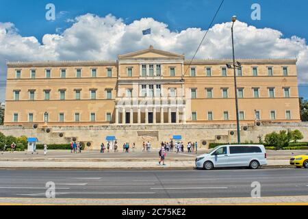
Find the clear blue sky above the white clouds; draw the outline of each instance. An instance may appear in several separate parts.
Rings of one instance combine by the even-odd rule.
[[[47,3],[55,5],[55,21],[45,19]],[[123,18],[124,23],[152,17],[155,21],[166,23],[171,31],[181,31],[188,27],[207,29],[219,3],[218,0],[0,0],[0,22],[14,23],[18,34],[35,36],[40,42],[44,34],[61,34],[61,30],[70,27],[72,23],[66,22],[68,18],[86,13],[99,16],[112,14]],[[251,19],[253,3],[261,5],[260,21]],[[296,35],[308,39],[307,7],[308,1],[305,0],[225,0],[215,23],[230,21],[231,16],[236,14],[240,21],[248,25],[281,31],[284,38]],[[300,95],[308,99],[308,87],[301,87]]]

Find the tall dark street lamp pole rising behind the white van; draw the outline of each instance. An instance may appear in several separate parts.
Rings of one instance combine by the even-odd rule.
[[[242,64],[240,62],[236,62],[235,64],[235,55],[234,55],[234,39],[233,39],[233,25],[236,21],[236,16],[232,17],[232,27],[231,27],[231,35],[232,35],[232,53],[233,53],[233,66],[231,64],[226,64],[227,68],[233,68],[234,72],[234,90],[235,90],[235,109],[236,109],[236,129],[238,131],[238,144],[241,142],[241,136],[240,136],[240,118],[239,118],[239,112],[238,112],[238,86],[236,85],[236,68],[241,68]]]

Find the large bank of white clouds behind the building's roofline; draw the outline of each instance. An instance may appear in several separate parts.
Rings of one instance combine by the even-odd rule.
[[[12,23],[0,23],[0,73],[5,80],[5,60],[116,60],[116,55],[145,49],[185,53],[190,58],[205,34],[200,28],[180,32],[153,18],[142,18],[125,24],[112,15],[100,17],[84,14],[70,19],[72,26],[62,34],[45,34],[42,44],[18,34]],[[142,36],[142,29],[151,28],[151,36]],[[207,34],[196,58],[231,57],[231,23],[214,25]],[[300,80],[308,80],[308,47],[303,38],[283,38],[281,31],[258,29],[240,21],[235,23],[235,53],[243,58],[298,57]],[[5,88],[0,88],[0,92]],[[0,100],[4,99],[1,92]]]

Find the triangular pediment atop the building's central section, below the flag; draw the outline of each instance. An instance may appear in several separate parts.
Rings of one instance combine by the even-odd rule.
[[[168,51],[162,51],[159,49],[154,49],[153,46],[149,49],[144,49],[136,51],[133,53],[127,53],[124,55],[118,55],[118,59],[139,59],[139,58],[176,58],[184,59],[184,55],[179,55],[177,53],[170,53]]]

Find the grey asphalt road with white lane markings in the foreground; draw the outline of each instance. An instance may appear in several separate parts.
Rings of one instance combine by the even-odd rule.
[[[249,197],[308,195],[307,169],[229,170],[0,170],[0,197],[44,198],[47,181],[56,198]],[[129,204],[129,203],[128,203]]]

